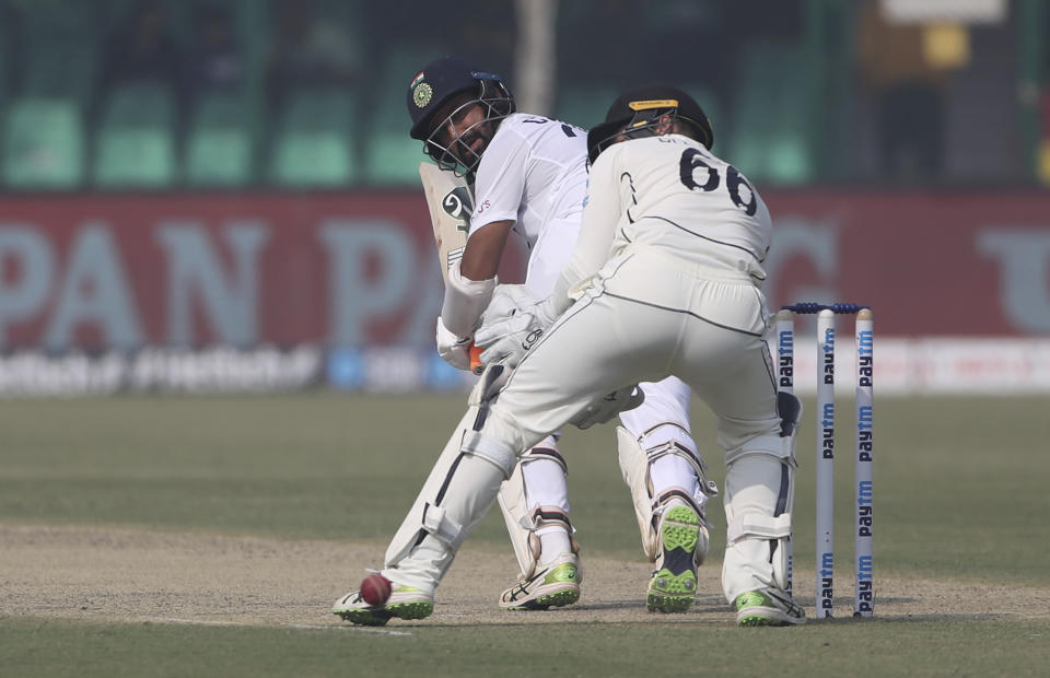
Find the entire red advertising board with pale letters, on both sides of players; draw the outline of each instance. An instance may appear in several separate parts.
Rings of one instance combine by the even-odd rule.
[[[1050,335],[1050,194],[767,191],[771,306],[880,336]],[[520,252],[504,279],[522,277]],[[0,197],[0,348],[425,346],[421,192]]]

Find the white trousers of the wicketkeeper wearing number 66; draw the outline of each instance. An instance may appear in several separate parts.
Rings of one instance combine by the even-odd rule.
[[[744,273],[642,248],[628,252],[603,269],[522,361],[492,405],[481,436],[520,453],[596,396],[674,374],[718,418],[726,484],[746,488],[750,480],[734,475],[733,461],[759,454],[777,465],[784,449],[762,339],[767,317],[760,290]],[[760,556],[765,551],[747,547],[733,546],[724,561],[732,570],[723,572],[730,600],[773,582],[771,565]]]

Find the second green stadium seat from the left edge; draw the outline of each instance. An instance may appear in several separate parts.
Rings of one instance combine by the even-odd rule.
[[[156,84],[115,89],[97,129],[93,178],[101,188],[164,188],[176,178],[175,101]]]

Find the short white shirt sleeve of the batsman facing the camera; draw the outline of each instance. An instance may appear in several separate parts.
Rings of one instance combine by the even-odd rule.
[[[474,183],[470,233],[495,221],[517,221],[525,195],[528,142],[511,129],[501,129],[485,150]]]

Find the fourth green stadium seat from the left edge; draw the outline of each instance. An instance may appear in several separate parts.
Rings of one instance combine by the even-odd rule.
[[[357,97],[345,90],[294,93],[277,129],[270,179],[291,188],[339,187],[359,178]]]

